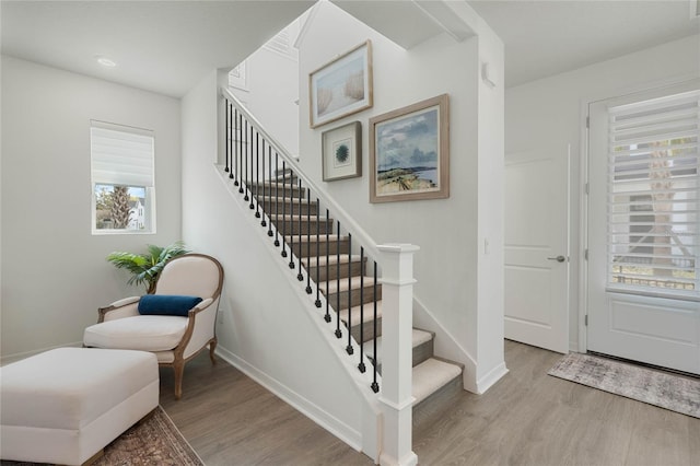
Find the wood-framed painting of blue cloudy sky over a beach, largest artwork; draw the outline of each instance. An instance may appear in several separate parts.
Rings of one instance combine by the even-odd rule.
[[[370,201],[450,197],[447,94],[370,119]]]

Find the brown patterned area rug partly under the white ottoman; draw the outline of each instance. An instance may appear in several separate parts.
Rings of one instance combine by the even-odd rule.
[[[2,466],[28,466],[36,463],[3,461]],[[203,466],[171,418],[160,406],[145,420],[124,432],[92,466]]]

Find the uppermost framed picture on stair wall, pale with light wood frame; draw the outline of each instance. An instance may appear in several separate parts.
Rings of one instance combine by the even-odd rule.
[[[370,108],[372,98],[370,40],[308,74],[312,128]]]

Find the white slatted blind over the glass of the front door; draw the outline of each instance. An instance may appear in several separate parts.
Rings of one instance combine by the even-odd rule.
[[[609,108],[608,286],[700,294],[700,91]]]

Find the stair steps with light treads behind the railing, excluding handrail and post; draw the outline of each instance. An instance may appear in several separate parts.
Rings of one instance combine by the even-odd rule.
[[[272,212],[270,221],[281,232],[307,276],[312,279],[318,277],[318,289],[332,306],[330,319],[336,322],[332,310],[340,310],[337,315],[341,336],[338,338],[342,338],[350,319],[350,335],[381,373],[382,283],[369,273],[368,258],[351,253],[351,236],[336,231],[334,220],[320,214],[318,202],[307,199],[306,189],[290,189],[290,186],[298,186],[292,171],[278,171],[276,178],[264,184],[265,196],[262,183],[258,183],[252,187],[253,197],[266,212]],[[285,213],[279,213],[281,210]],[[372,312],[375,296],[376,317]],[[463,366],[435,358],[433,340],[433,333],[413,328],[415,412],[430,409],[431,403],[438,404],[441,398],[462,391]]]

